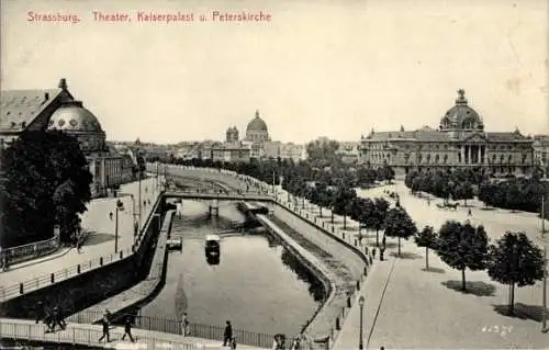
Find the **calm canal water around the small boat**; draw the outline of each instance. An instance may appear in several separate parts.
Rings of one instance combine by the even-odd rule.
[[[141,309],[142,316],[180,318],[191,324],[262,334],[295,335],[325,295],[317,281],[285,248],[261,229],[231,230],[245,217],[234,203],[220,202],[220,217],[208,217],[208,203],[184,201],[171,237],[182,251],[168,256],[166,284]],[[206,261],[205,236],[220,234],[219,264]]]

